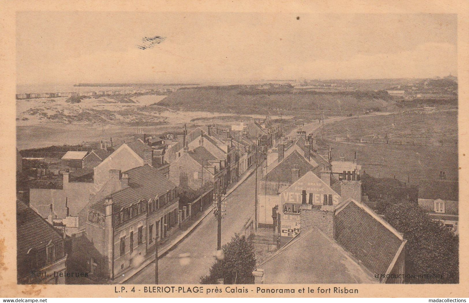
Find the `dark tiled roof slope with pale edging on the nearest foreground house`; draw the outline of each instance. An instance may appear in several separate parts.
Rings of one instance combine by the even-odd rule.
[[[359,259],[372,273],[386,273],[402,244],[402,236],[369,212],[350,201],[335,216],[335,240]],[[339,207],[340,208],[340,207]],[[394,232],[395,233],[394,233]]]

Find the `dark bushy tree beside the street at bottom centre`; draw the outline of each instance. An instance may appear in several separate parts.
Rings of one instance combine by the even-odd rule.
[[[213,263],[208,275],[200,279],[202,284],[216,284],[222,278],[224,284],[252,284],[252,271],[256,268],[254,247],[244,236],[236,234],[231,242],[221,248],[222,257]]]

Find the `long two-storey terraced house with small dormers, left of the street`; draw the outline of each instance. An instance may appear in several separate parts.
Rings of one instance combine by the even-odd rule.
[[[88,270],[98,276],[114,277],[144,260],[156,241],[179,227],[179,197],[176,185],[159,170],[145,164],[121,172],[111,171],[121,189],[107,194],[88,208],[85,237],[76,239],[90,249]],[[82,253],[83,253],[82,252]]]

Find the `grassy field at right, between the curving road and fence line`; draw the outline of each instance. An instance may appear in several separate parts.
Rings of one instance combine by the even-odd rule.
[[[354,140],[363,138],[372,141],[373,138],[383,139],[387,135],[389,140],[404,143],[455,145],[458,137],[457,118],[456,110],[350,118],[340,123],[326,124],[324,133],[329,139],[349,135]]]

